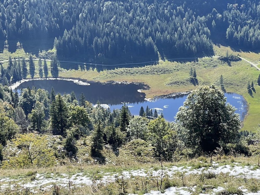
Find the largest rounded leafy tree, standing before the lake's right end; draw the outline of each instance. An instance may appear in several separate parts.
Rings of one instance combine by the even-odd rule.
[[[180,139],[196,152],[210,152],[239,138],[239,115],[214,85],[193,90],[179,108],[176,122]]]

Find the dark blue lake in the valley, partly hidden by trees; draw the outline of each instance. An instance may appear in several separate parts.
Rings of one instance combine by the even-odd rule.
[[[156,109],[158,114],[163,113],[164,118],[167,121],[174,121],[174,116],[178,112],[180,106],[183,106],[183,102],[186,100],[187,95],[180,95],[167,98],[157,98],[153,101],[145,100],[145,93],[138,92],[138,89],[144,89],[147,86],[137,85],[134,83],[120,84],[120,83],[99,83],[90,82],[90,85],[80,85],[73,81],[64,80],[30,80],[21,83],[17,89],[27,88],[35,86],[36,89],[42,88],[51,91],[53,87],[56,93],[71,93],[75,92],[77,99],[81,93],[84,94],[86,100],[95,105],[97,100],[100,101],[103,106],[109,106],[111,110],[120,109],[122,103],[126,102],[129,110],[133,115],[139,115],[139,110],[144,107],[144,110],[148,106],[150,109]],[[246,101],[242,95],[236,93],[225,93],[227,102],[237,108],[236,113],[240,114],[241,120],[246,115]]]

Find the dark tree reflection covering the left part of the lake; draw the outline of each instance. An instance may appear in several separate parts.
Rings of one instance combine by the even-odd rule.
[[[36,89],[42,88],[48,90],[50,93],[53,87],[55,93],[70,94],[74,91],[77,100],[80,94],[83,93],[86,100],[95,104],[97,100],[102,104],[118,105],[121,102],[138,103],[144,102],[145,93],[139,93],[138,89],[143,89],[144,86],[130,84],[116,84],[116,83],[99,83],[91,82],[89,86],[78,85],[72,81],[63,80],[32,80],[22,83],[18,88],[27,88],[35,86]]]

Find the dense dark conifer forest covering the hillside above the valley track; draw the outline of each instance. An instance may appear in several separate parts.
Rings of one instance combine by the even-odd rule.
[[[260,45],[256,0],[15,0],[1,1],[0,11],[2,42],[52,38],[59,58],[212,55],[212,40]]]

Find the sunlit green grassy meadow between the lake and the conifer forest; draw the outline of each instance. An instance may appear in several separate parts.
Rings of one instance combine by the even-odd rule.
[[[259,55],[257,53],[234,51],[232,48],[224,46],[214,46],[214,51],[215,56],[225,55],[226,51],[228,51],[229,54],[239,54],[241,57],[253,63],[259,62]],[[9,55],[11,57],[27,57],[23,49],[16,50],[15,53],[9,53],[7,50],[4,50],[4,52],[0,54],[0,59],[8,59]],[[49,65],[49,62],[47,63]],[[7,65],[7,63],[4,63],[4,65]],[[35,78],[37,78],[37,62],[35,62],[35,65]],[[144,90],[146,97],[153,97],[155,95],[196,89],[198,86],[194,86],[189,82],[189,72],[191,67],[196,69],[199,85],[216,84],[219,86],[219,78],[222,74],[226,92],[239,93],[245,97],[249,105],[249,112],[245,117],[242,130],[254,131],[254,127],[257,127],[260,118],[260,105],[258,103],[260,101],[260,87],[257,86],[257,77],[260,72],[256,68],[251,67],[250,64],[245,61],[232,62],[230,67],[226,63],[217,60],[217,58],[205,57],[198,60],[173,62],[164,61],[153,66],[118,68],[114,70],[104,70],[101,72],[97,72],[96,69],[83,71],[80,69],[68,71],[62,69],[59,76],[75,77],[94,81],[116,80],[143,82],[150,86],[149,90]],[[248,81],[250,81],[250,83],[253,81],[255,84],[256,93],[253,94],[253,97],[247,93]]]

